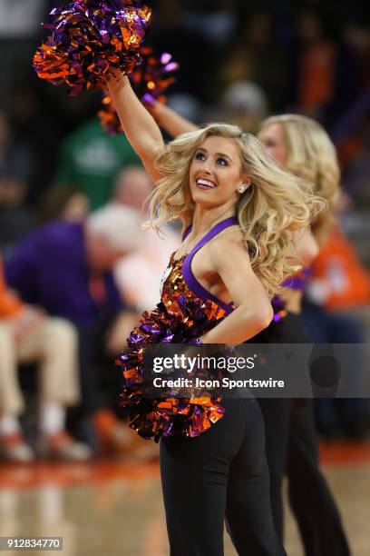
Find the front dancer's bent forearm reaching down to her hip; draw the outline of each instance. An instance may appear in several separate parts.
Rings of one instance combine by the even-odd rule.
[[[253,307],[239,306],[200,340],[202,343],[243,343],[267,328],[272,317],[271,306],[259,313]]]

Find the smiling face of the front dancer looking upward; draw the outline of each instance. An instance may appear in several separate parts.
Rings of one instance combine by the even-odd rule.
[[[195,151],[190,165],[193,201],[209,208],[235,204],[242,184],[247,188],[248,179],[241,174],[238,144],[224,137],[207,137]]]

